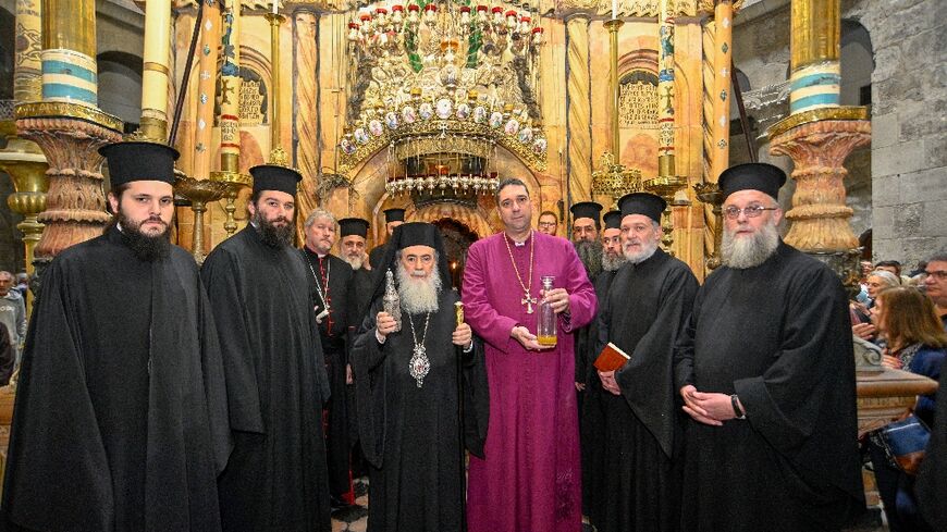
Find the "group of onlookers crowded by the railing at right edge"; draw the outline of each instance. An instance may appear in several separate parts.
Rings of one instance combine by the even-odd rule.
[[[851,301],[850,313],[852,333],[881,349],[883,366],[939,382],[947,356],[947,253],[931,257],[907,273],[894,260],[862,262],[861,292]],[[934,404],[935,394],[919,396],[908,415],[930,428]],[[928,530],[919,517],[915,477],[893,462],[880,431],[864,438],[863,449],[889,529]]]

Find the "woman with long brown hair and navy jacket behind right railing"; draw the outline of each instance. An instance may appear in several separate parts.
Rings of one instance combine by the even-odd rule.
[[[940,380],[940,367],[947,356],[947,333],[930,298],[910,286],[886,288],[877,293],[872,316],[887,345],[884,366]],[[918,396],[913,408],[913,413],[927,426],[934,422],[934,394]],[[869,437],[868,447],[889,530],[932,530],[918,512],[914,477],[888,461],[877,433]]]

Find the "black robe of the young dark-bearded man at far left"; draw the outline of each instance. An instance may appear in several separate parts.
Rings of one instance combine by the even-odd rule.
[[[9,530],[220,530],[229,453],[194,259],[171,246],[139,260],[114,227],[62,251],[42,275],[16,391]]]

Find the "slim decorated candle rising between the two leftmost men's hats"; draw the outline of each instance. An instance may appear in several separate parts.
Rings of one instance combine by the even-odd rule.
[[[239,136],[239,20],[241,2],[227,2],[223,14],[223,37],[221,51],[223,61],[220,65],[220,169],[224,172],[239,171],[241,136]]]

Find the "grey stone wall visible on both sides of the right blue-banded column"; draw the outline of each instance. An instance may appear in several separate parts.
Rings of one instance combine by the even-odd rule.
[[[859,235],[873,228],[874,260],[913,267],[947,249],[947,23],[937,10],[940,4],[843,1],[843,18],[864,26],[874,58],[872,145],[846,162],[852,230]],[[785,82],[789,69],[789,0],[747,2],[735,23],[734,62],[751,83],[747,106],[760,123],[752,132],[760,160],[790,170],[787,158],[765,157],[768,119],[787,112],[788,101],[763,94]],[[858,87],[845,87],[863,83],[862,73],[847,67],[850,57],[844,48],[843,94],[848,97],[843,103],[858,104]],[[743,140],[731,138],[730,144],[736,148],[731,162],[746,162]]]

